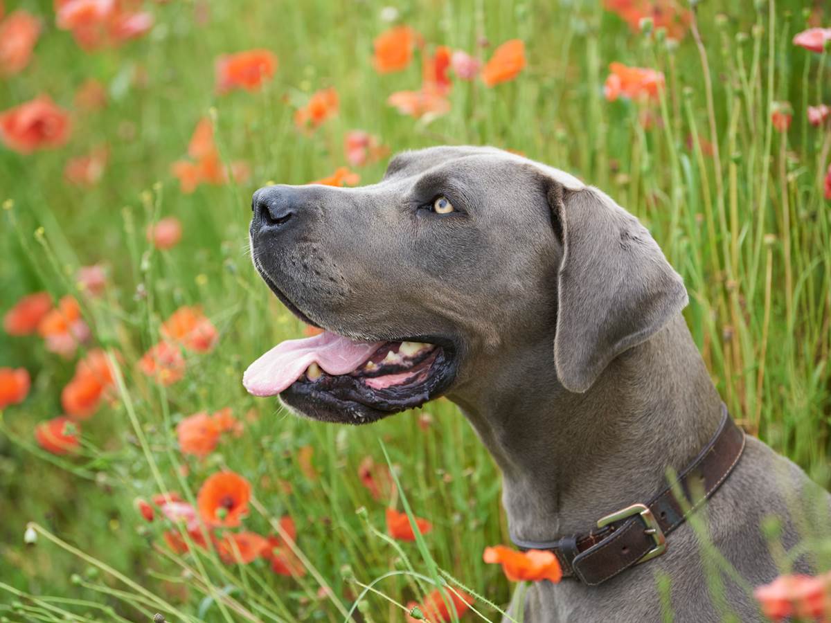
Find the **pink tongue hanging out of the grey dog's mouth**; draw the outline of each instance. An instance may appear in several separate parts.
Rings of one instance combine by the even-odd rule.
[[[329,331],[284,341],[248,366],[243,385],[255,396],[278,395],[314,362],[330,375],[345,375],[369,359],[383,343],[352,341]]]

